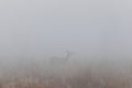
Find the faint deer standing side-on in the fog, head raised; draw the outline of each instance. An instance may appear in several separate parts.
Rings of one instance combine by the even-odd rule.
[[[57,57],[54,56],[51,58],[51,64],[65,64],[68,62],[68,59],[70,58],[70,56],[73,55],[73,53],[66,51],[66,56],[65,57]]]

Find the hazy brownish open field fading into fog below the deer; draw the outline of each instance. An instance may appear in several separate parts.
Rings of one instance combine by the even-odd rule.
[[[121,65],[124,68],[103,63],[21,66],[4,73],[0,88],[132,88],[131,72],[125,65]]]

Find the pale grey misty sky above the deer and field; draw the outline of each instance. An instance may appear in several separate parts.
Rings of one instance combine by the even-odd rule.
[[[1,0],[1,58],[131,56],[131,0]]]

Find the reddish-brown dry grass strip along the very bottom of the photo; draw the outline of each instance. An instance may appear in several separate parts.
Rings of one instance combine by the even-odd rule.
[[[85,75],[84,75],[85,76]],[[53,79],[18,79],[0,84],[0,88],[131,88],[131,80],[114,76],[94,76]]]

